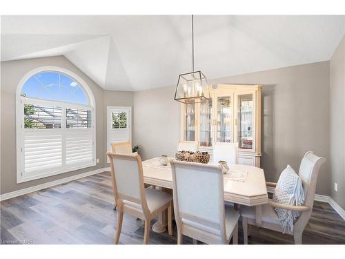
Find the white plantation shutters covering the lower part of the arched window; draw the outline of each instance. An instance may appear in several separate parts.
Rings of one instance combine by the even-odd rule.
[[[23,181],[95,165],[93,108],[23,99],[21,114]]]

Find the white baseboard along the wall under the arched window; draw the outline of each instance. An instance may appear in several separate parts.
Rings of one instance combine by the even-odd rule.
[[[10,198],[14,198],[14,197],[26,194],[26,193],[32,193],[34,191],[39,191],[41,189],[46,189],[46,188],[49,188],[49,187],[52,187],[55,185],[64,184],[65,182],[70,182],[73,180],[77,180],[79,178],[85,178],[86,176],[95,175],[96,173],[102,173],[104,171],[110,171],[110,168],[109,168],[109,170],[107,168],[101,168],[101,169],[96,169],[96,170],[89,171],[86,173],[79,173],[78,175],[73,175],[73,176],[70,176],[68,178],[63,178],[63,179],[55,180],[52,182],[46,182],[44,184],[39,184],[39,185],[32,186],[29,188],[21,189],[18,191],[11,191],[10,193],[4,193],[4,194],[0,195],[0,201],[1,200],[8,200]]]

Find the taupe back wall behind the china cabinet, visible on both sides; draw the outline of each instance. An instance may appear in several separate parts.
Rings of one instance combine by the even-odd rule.
[[[266,180],[277,181],[287,164],[299,169],[306,151],[326,157],[317,193],[329,195],[329,62],[291,66],[234,77],[210,84],[262,84],[262,168]],[[172,155],[179,140],[179,103],[175,86],[134,95],[134,140],[143,158]]]

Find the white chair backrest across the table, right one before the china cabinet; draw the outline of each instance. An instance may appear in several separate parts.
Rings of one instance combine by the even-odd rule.
[[[237,164],[238,143],[216,142],[213,147],[213,161],[224,160],[228,164]]]

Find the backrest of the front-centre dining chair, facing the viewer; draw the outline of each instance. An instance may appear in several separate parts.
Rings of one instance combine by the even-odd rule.
[[[170,164],[178,227],[187,224],[226,238],[221,166],[177,160]]]

